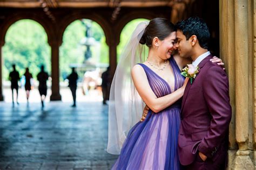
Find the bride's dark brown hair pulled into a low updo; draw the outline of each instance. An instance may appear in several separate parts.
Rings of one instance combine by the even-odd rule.
[[[177,29],[169,20],[165,18],[154,18],[149,22],[149,25],[147,25],[139,43],[146,44],[146,46],[151,47],[154,37],[164,40],[174,31],[177,31]]]

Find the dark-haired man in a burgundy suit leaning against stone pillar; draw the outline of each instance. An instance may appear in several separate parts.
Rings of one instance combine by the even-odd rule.
[[[181,104],[180,163],[184,169],[225,169],[231,120],[228,78],[219,65],[210,62],[210,33],[203,19],[191,17],[176,26],[179,56],[191,57],[192,64],[199,67]]]

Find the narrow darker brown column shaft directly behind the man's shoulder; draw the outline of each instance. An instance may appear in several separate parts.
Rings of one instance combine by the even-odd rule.
[[[226,73],[230,84],[230,104],[232,106],[232,120],[230,123],[230,149],[238,149],[235,140],[235,60],[234,57],[234,1],[219,1],[220,16],[220,57],[226,67]]]

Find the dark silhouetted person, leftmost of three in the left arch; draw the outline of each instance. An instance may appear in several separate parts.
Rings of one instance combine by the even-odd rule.
[[[11,81],[11,93],[12,93],[12,104],[14,105],[14,89],[16,90],[16,102],[18,103],[18,81],[19,81],[19,72],[16,70],[15,64],[12,65],[13,71],[9,74],[9,80]]]

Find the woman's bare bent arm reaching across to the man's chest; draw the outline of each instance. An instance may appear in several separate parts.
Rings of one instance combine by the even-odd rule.
[[[142,97],[143,101],[154,113],[164,110],[164,108],[169,107],[179,100],[183,96],[187,83],[187,81],[185,81],[184,85],[180,87],[180,89],[166,96],[157,98],[149,85],[149,81],[147,80],[146,73],[142,66],[135,65],[132,68],[131,74],[134,86],[136,87],[140,97]]]

